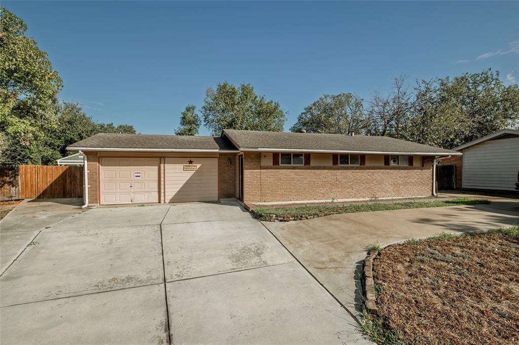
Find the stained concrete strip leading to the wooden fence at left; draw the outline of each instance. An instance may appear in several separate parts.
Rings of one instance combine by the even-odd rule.
[[[83,212],[81,198],[25,199],[0,221],[0,274],[43,229]]]

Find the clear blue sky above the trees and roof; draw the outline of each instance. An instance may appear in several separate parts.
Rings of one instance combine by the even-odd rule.
[[[145,134],[173,134],[184,107],[225,80],[279,102],[286,131],[321,95],[367,98],[401,73],[491,67],[519,80],[519,2],[3,4],[49,54],[61,99]]]

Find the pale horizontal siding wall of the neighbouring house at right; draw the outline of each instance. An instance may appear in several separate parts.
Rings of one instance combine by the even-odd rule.
[[[463,188],[510,190],[519,170],[519,137],[488,140],[463,150]]]

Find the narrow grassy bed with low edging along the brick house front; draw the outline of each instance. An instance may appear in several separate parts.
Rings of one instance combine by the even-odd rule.
[[[261,220],[269,220],[269,214],[288,215],[290,218],[298,219],[303,216],[316,217],[318,215],[330,215],[340,213],[370,212],[384,210],[403,210],[410,208],[445,207],[462,205],[490,204],[488,200],[458,198],[453,200],[434,200],[430,202],[404,202],[388,204],[354,204],[344,206],[304,206],[291,208],[255,209],[254,212]]]

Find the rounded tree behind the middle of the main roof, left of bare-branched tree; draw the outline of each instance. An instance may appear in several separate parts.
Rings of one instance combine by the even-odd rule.
[[[340,93],[324,95],[305,107],[290,130],[304,130],[308,133],[365,133],[368,125],[363,99],[355,94]]]

